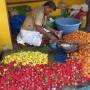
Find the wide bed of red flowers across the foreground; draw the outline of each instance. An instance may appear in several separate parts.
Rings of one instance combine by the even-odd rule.
[[[49,62],[48,65],[26,65],[14,67],[14,62],[0,65],[0,90],[50,90],[64,86],[84,84],[79,60],[69,58],[65,64]]]

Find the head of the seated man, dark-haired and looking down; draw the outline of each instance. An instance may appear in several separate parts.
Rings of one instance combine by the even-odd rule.
[[[56,5],[53,1],[48,1],[48,2],[44,3],[44,13],[45,14],[49,14],[55,10],[56,10]]]

